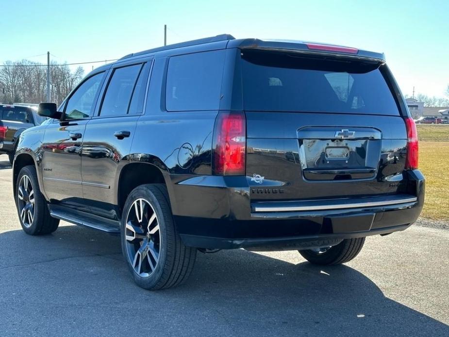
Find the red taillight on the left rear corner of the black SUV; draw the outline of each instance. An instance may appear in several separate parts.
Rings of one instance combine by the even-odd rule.
[[[243,112],[221,112],[215,120],[213,165],[216,175],[244,175],[246,120]]]

